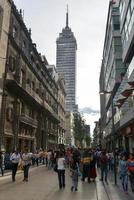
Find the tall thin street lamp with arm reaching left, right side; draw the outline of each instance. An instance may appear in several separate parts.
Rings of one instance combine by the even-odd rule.
[[[111,95],[110,101],[111,101],[111,112],[112,112],[111,120],[112,120],[112,135],[113,135],[113,154],[114,154],[114,183],[115,183],[115,185],[117,185],[116,145],[115,145],[116,134],[115,134],[115,126],[114,126],[114,103],[113,103],[114,95],[113,95],[113,91],[101,91],[100,92],[100,95],[104,95],[104,94]]]

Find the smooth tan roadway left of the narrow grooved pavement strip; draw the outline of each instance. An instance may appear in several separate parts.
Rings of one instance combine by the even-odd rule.
[[[1,177],[0,177],[1,178]],[[77,192],[71,192],[70,173],[66,172],[66,187],[59,190],[57,173],[45,166],[31,169],[29,182],[23,182],[23,175],[16,175],[16,182],[11,176],[0,179],[0,200],[97,200],[96,184],[79,181]]]

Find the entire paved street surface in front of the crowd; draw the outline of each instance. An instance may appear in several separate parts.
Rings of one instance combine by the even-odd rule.
[[[29,182],[22,181],[22,173],[17,174],[12,183],[11,175],[0,177],[0,200],[132,200],[119,188],[104,185],[97,178],[96,183],[79,181],[77,192],[71,192],[71,178],[66,172],[66,187],[59,190],[57,174],[48,171],[45,166],[35,167],[30,171]]]

